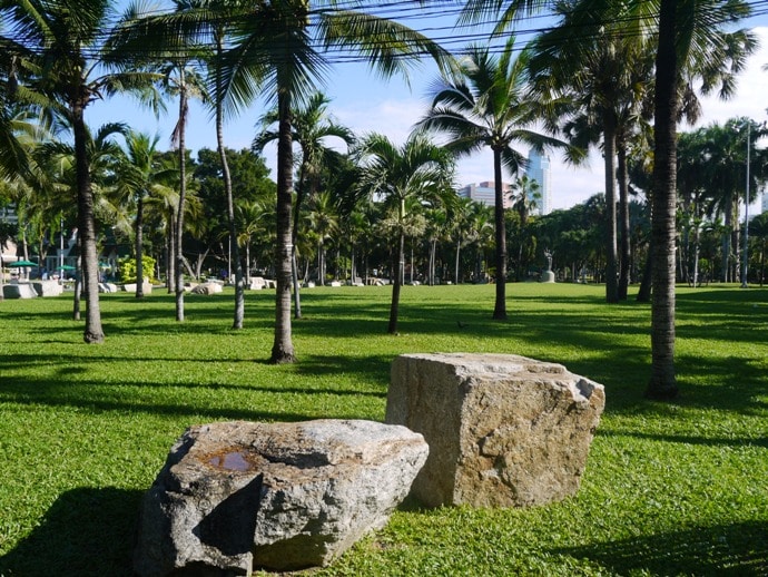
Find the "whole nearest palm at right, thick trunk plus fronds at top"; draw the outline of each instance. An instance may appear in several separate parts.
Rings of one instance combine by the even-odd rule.
[[[656,57],[654,157],[651,196],[651,379],[646,394],[671,399],[678,394],[675,374],[675,237],[677,183],[677,120],[679,89],[686,72],[702,78],[702,91],[718,86],[722,97],[733,89],[733,76],[754,48],[751,35],[720,27],[749,13],[746,2],[660,0]],[[699,65],[698,68],[690,66]]]

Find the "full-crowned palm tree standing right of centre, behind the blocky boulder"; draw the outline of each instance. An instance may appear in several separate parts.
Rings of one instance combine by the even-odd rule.
[[[535,123],[551,114],[551,104],[529,92],[528,65],[531,53],[514,55],[514,37],[494,58],[489,46],[471,46],[453,80],[439,80],[432,89],[432,107],[420,121],[423,128],[447,135],[446,146],[456,155],[470,155],[483,147],[493,153],[495,186],[496,295],[493,317],[506,319],[506,233],[502,168],[516,175],[525,157],[513,146],[542,150],[563,147],[572,158],[580,155],[562,140],[535,129]]]

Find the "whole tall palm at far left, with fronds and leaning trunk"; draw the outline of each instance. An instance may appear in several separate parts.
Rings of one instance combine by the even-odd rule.
[[[120,55],[108,53],[111,0],[28,0],[2,2],[3,49],[32,62],[39,74],[26,87],[67,118],[75,140],[78,234],[82,250],[82,278],[87,302],[83,340],[104,341],[98,291],[93,190],[88,157],[85,111],[96,99],[129,90],[146,97],[152,75],[127,69]]]

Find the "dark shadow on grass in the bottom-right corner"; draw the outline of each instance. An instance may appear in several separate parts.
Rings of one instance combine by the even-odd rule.
[[[589,559],[618,575],[768,575],[768,522],[697,527],[550,552]]]

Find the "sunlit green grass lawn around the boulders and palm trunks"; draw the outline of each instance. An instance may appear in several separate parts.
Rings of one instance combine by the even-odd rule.
[[[71,295],[0,302],[0,575],[131,575],[139,500],[195,423],[383,420],[406,352],[502,352],[605,385],[578,496],[531,509],[424,509],[313,575],[768,575],[768,288],[678,291],[673,403],[643,399],[650,307],[601,286],[406,286],[302,293],[299,362],[267,364],[274,291],[101,299],[107,341],[82,343]],[[631,295],[633,299],[633,295]]]

